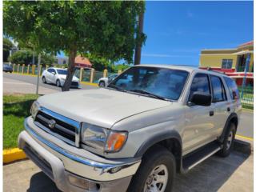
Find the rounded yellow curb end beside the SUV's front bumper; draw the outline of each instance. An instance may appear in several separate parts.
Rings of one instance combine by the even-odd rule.
[[[18,148],[3,150],[2,152],[3,163],[14,162],[14,161],[22,160],[24,158],[26,158],[26,154],[23,152],[23,150],[20,150]]]

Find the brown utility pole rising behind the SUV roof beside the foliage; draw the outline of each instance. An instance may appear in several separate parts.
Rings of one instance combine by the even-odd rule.
[[[138,16],[138,34],[137,37],[141,37],[143,33],[143,23],[144,23],[144,11]],[[142,57],[142,44],[136,42],[135,54],[134,54],[134,65],[139,65],[141,63]]]

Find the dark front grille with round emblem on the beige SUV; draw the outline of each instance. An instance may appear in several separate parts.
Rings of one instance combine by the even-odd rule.
[[[50,120],[54,120],[54,127],[50,127]],[[38,111],[38,114],[34,120],[39,126],[43,126],[46,128],[45,130],[50,134],[58,135],[62,140],[66,141],[66,139],[71,142],[71,144],[75,143],[75,127],[70,124],[51,116],[50,114],[46,114],[43,111]]]

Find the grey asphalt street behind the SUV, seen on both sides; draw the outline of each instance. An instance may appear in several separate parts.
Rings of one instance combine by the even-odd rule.
[[[34,93],[35,92],[35,85],[37,83],[37,77],[33,77],[30,75],[22,75],[22,74],[6,74],[3,73],[3,92],[14,92],[14,90],[22,90],[25,93]],[[34,88],[32,89],[30,85],[33,85]],[[50,94],[57,91],[61,91],[61,88],[42,83],[42,79],[40,78],[39,82],[39,90],[41,90],[42,94]],[[82,84],[82,90],[90,90],[90,89],[97,89],[96,86],[87,86]],[[70,90],[78,90],[78,89],[70,89]],[[22,92],[22,93],[24,93]],[[40,94],[40,92],[39,92]],[[254,113],[252,110],[243,110],[241,121],[238,125],[238,135],[248,138],[254,138]]]

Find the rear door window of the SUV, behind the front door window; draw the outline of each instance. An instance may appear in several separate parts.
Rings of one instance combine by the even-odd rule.
[[[213,87],[213,102],[222,102],[226,100],[226,93],[222,83],[222,79],[210,75],[210,82]]]

